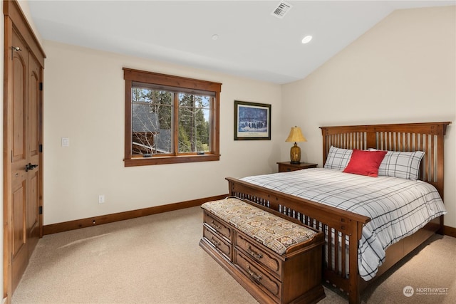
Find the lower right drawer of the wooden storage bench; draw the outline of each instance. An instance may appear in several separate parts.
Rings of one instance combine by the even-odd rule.
[[[264,290],[274,301],[280,303],[281,298],[281,282],[271,276],[271,274],[261,270],[261,268],[255,266],[247,256],[244,256],[241,251],[234,248],[234,265],[244,273],[250,280],[254,281],[259,287]]]

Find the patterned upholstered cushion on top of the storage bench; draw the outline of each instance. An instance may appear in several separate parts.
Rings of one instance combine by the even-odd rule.
[[[208,201],[201,207],[280,255],[290,246],[312,239],[316,234],[305,226],[233,197]]]

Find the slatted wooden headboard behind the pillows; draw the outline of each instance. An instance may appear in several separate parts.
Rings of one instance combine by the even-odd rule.
[[[375,148],[389,151],[423,151],[420,179],[437,188],[443,199],[443,139],[451,122],[320,127],[323,164],[331,146],[343,149]]]

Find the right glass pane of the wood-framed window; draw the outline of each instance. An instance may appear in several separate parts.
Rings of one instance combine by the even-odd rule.
[[[212,98],[179,94],[179,153],[210,152]]]

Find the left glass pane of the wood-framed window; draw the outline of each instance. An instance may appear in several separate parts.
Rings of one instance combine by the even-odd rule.
[[[172,152],[172,93],[132,88],[132,152]]]

